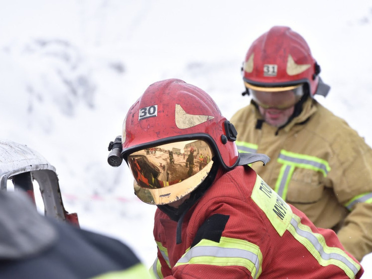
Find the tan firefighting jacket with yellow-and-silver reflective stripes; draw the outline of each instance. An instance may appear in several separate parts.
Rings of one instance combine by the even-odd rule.
[[[359,261],[372,252],[372,149],[343,119],[309,98],[279,130],[262,122],[253,104],[231,123],[239,152],[271,158],[252,167],[284,200],[317,227],[337,231]]]

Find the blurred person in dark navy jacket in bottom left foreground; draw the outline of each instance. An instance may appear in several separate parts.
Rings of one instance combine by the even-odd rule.
[[[0,278],[150,278],[125,244],[39,215],[22,192],[0,191]]]

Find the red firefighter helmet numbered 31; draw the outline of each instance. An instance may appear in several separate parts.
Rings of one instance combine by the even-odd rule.
[[[311,96],[326,96],[330,89],[319,77],[320,66],[305,39],[285,26],[272,27],[252,43],[242,71],[245,86],[254,90],[283,91],[307,84]]]

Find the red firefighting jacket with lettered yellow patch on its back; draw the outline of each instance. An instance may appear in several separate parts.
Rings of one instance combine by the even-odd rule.
[[[250,167],[217,174],[178,222],[155,214],[156,278],[360,278],[361,265],[332,230],[318,229]]]

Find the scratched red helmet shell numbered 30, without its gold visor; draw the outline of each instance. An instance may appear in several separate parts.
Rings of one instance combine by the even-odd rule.
[[[123,151],[186,139],[205,139],[228,170],[238,161],[234,129],[213,99],[200,88],[180,79],[150,85],[129,109],[123,123]],[[235,135],[236,137],[236,135]]]

